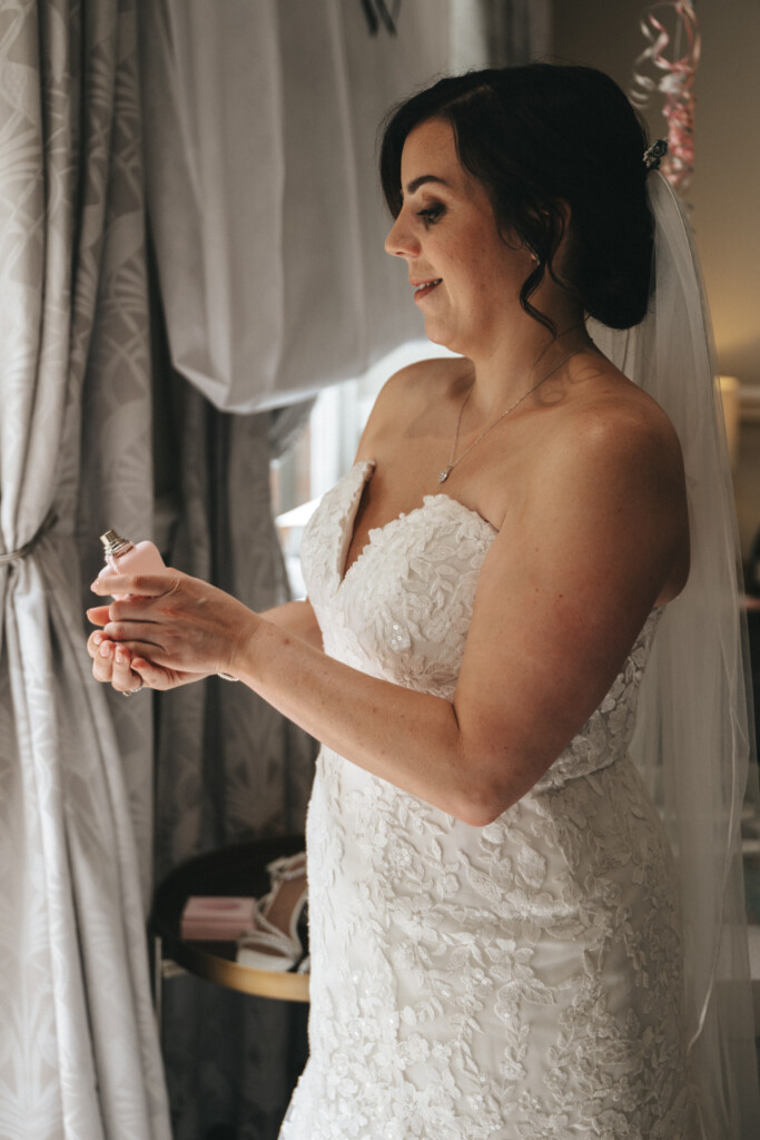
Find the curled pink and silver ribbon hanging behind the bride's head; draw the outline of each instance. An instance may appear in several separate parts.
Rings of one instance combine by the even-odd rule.
[[[675,33],[668,22],[675,21]],[[700,63],[700,28],[694,6],[685,0],[659,3],[641,18],[647,47],[634,64],[631,103],[649,106],[655,93],[664,97],[662,114],[668,123],[668,155],[660,168],[679,194],[688,188],[694,173],[694,80]],[[675,58],[668,58],[673,40]],[[686,51],[680,55],[681,44]],[[655,78],[646,73],[654,67]]]

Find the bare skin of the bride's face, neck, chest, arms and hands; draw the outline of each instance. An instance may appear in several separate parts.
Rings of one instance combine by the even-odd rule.
[[[498,531],[452,702],[327,658],[308,602],[256,614],[173,570],[98,579],[96,593],[137,596],[89,611],[103,629],[88,650],[95,676],[123,691],[230,673],[328,748],[482,826],[540,779],[604,698],[652,608],[683,588],[685,480],[672,425],[594,349],[575,302],[551,280],[534,295],[556,341],[523,312],[532,255],[499,234],[447,123],[409,136],[401,178],[386,249],[411,282],[439,282],[417,303],[428,336],[463,359],[412,365],[383,389],[359,447],[376,467],[344,570],[370,529],[442,490],[465,397],[457,456],[559,365],[444,484]],[[561,247],[559,268],[562,258]]]

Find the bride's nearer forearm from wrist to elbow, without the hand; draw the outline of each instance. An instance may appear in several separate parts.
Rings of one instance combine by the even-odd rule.
[[[468,773],[452,705],[352,669],[269,621],[232,671],[280,712],[359,767],[467,822]]]

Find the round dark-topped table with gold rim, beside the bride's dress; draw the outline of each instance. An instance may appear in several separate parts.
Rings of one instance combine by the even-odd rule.
[[[161,1025],[166,978],[189,971],[210,982],[276,1001],[309,1001],[309,975],[256,970],[235,961],[234,942],[195,942],[180,935],[185,904],[191,895],[253,895],[269,890],[267,864],[303,850],[303,836],[258,839],[198,855],[175,868],[157,888],[150,914],[154,938],[154,995]]]

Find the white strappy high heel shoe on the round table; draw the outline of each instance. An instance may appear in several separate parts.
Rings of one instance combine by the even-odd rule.
[[[271,890],[259,901],[256,927],[237,944],[237,961],[256,970],[292,970],[304,955],[299,928],[305,927],[307,856],[267,865]]]

